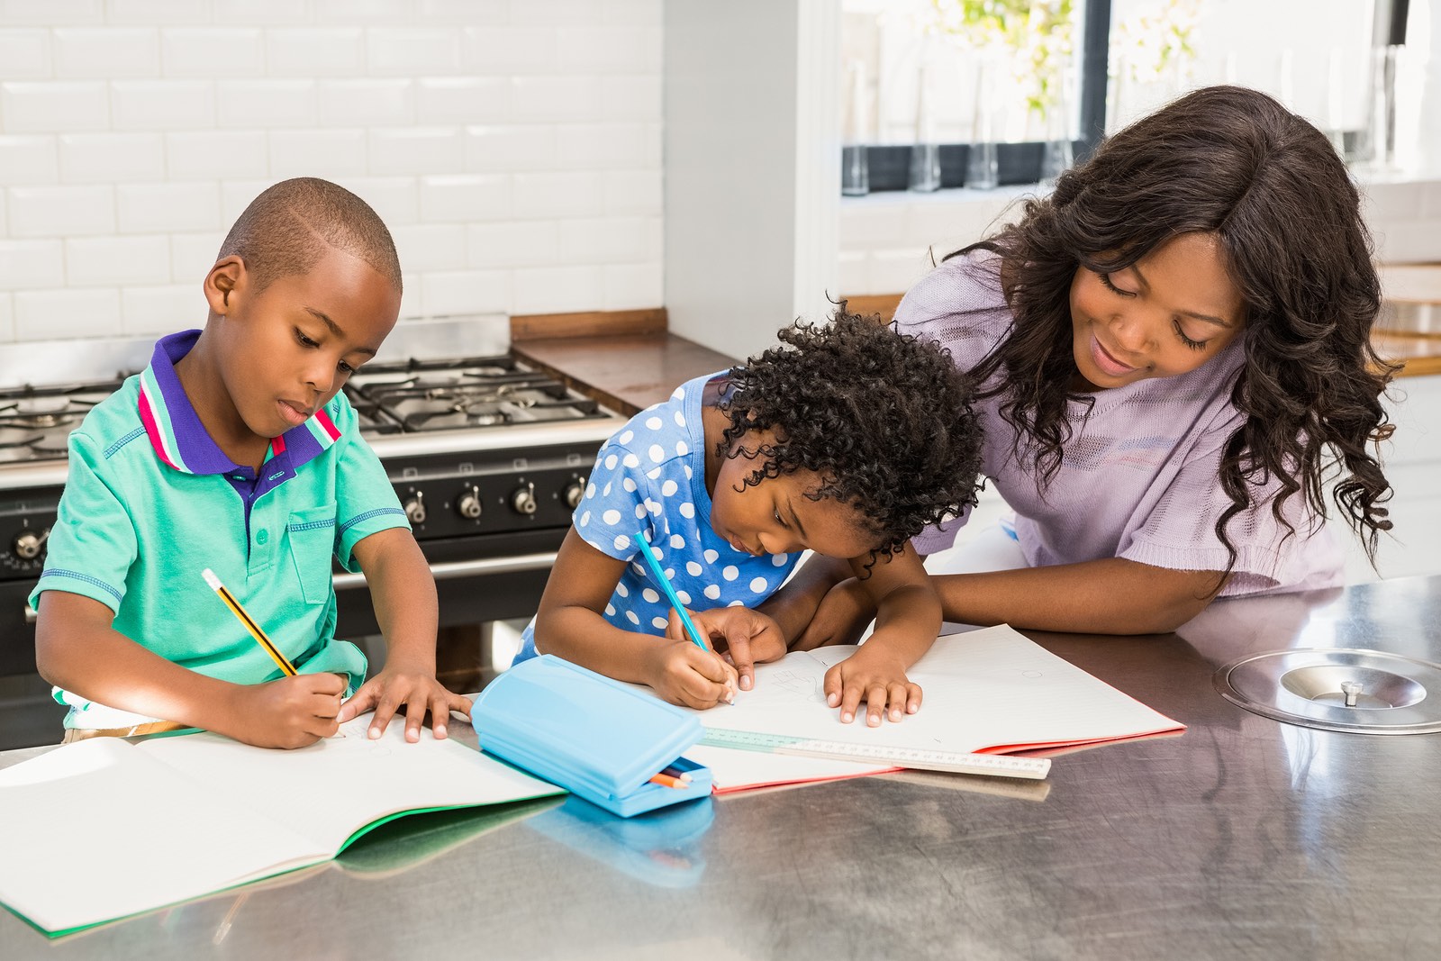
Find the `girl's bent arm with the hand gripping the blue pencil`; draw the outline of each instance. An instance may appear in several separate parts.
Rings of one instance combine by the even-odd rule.
[[[572,527],[540,595],[536,650],[607,677],[648,684],[689,707],[713,707],[733,697],[735,670],[718,654],[689,640],[623,631],[601,615],[625,563],[585,543]]]

